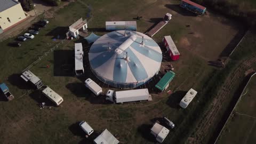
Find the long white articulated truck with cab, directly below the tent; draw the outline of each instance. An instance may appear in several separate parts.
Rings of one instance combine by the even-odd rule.
[[[152,100],[148,89],[127,90],[127,91],[113,91],[108,90],[106,100],[114,103],[123,103],[129,101]]]

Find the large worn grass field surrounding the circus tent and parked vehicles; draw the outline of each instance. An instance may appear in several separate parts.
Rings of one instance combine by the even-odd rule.
[[[181,53],[179,61],[170,61],[164,54],[161,71],[167,64],[175,68],[176,76],[170,85],[174,93],[167,95],[153,94],[151,102],[131,102],[124,105],[104,103],[103,97],[94,98],[83,85],[90,73],[86,62],[86,75],[77,78],[74,75],[74,42],[88,44],[84,39],[65,41],[50,52],[30,70],[39,76],[45,85],[59,93],[64,102],[61,107],[54,107],[40,91],[30,87],[19,77],[23,69],[37,60],[44,52],[61,40],[53,41],[58,35],[65,36],[68,26],[81,17],[86,18],[90,4],[93,9],[89,30],[103,35],[99,31],[105,27],[105,21],[133,20],[137,15],[143,18],[137,21],[138,31],[145,32],[166,12],[173,14],[171,22],[153,38],[161,42],[162,37],[171,35]],[[176,125],[165,143],[184,143],[191,129],[190,118],[195,117],[194,110],[209,79],[218,71],[209,65],[208,60],[215,60],[228,43],[242,28],[239,23],[209,12],[204,17],[195,17],[190,12],[180,9],[178,1],[77,1],[60,9],[49,25],[40,31],[34,39],[28,39],[21,47],[10,47],[14,38],[1,42],[0,60],[2,73],[0,82],[6,83],[15,99],[11,102],[0,101],[0,143],[91,143],[103,129],[125,143],[154,143],[149,133],[150,126],[162,116],[169,117]],[[234,24],[235,23],[235,24]],[[188,26],[189,25],[189,26]],[[88,52],[85,48],[84,52]],[[86,59],[86,58],[85,58]],[[50,65],[50,68],[45,68]],[[94,79],[98,83],[99,80]],[[154,83],[154,82],[153,82]],[[108,87],[103,85],[106,92]],[[191,87],[198,91],[197,97],[188,109],[178,108],[183,94]],[[45,109],[39,109],[38,102],[46,102]],[[93,127],[95,134],[86,139],[78,127],[78,122],[85,120]]]

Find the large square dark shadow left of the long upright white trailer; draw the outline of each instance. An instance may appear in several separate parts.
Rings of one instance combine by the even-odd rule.
[[[75,58],[73,50],[55,50],[54,76],[74,76]]]

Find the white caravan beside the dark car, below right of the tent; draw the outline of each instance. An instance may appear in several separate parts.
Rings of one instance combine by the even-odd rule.
[[[156,141],[159,143],[162,143],[164,141],[169,132],[170,131],[166,127],[158,123],[155,123],[150,131],[150,133],[156,137]]]

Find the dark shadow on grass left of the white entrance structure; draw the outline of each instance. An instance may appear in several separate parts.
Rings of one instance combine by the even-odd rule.
[[[56,39],[65,39],[66,33],[68,32],[68,27],[56,27],[53,30],[51,30],[49,33],[46,34],[46,36],[52,36],[52,38]]]

